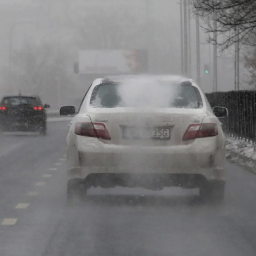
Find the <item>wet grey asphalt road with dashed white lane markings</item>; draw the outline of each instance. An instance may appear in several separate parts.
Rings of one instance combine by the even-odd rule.
[[[256,175],[226,163],[221,205],[179,188],[90,189],[68,204],[67,125],[0,136],[0,256],[256,255]]]

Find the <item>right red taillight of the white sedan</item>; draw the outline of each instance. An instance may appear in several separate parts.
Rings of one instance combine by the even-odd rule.
[[[205,124],[191,124],[185,134],[182,141],[189,141],[198,138],[214,137],[218,135],[217,124],[205,123]]]

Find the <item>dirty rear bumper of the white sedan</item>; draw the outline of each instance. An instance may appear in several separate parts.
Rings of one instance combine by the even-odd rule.
[[[80,141],[81,142],[81,141]],[[225,147],[217,137],[179,146],[118,146],[88,138],[68,149],[68,179],[90,174],[201,175],[207,181],[225,181]],[[75,161],[77,156],[77,161]]]

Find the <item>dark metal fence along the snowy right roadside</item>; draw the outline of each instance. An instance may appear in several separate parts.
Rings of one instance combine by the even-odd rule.
[[[256,142],[256,91],[206,93],[212,107],[223,106],[229,117],[221,119],[225,133]]]

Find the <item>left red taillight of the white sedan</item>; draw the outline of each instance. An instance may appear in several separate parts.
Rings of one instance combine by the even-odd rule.
[[[111,140],[105,124],[99,123],[76,123],[75,134],[86,137],[97,137],[104,140]]]

